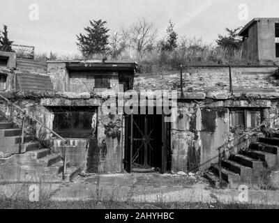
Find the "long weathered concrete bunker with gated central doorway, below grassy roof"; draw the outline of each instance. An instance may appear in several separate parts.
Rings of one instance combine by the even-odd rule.
[[[181,75],[136,75],[137,63],[132,61],[43,64],[17,61],[13,54],[5,55],[0,75],[6,77],[6,87],[1,95],[9,102],[3,99],[0,103],[0,155],[16,155],[1,161],[0,168],[7,162],[22,164],[28,160],[32,171],[47,167],[47,176],[54,178],[54,173],[59,174],[64,168],[61,160],[67,151],[70,178],[80,171],[177,173],[211,167],[206,177],[217,184],[218,167],[211,164],[218,162],[217,148],[229,147],[226,143],[230,139],[235,139],[229,147],[231,160],[222,162],[227,183],[255,181],[266,165],[271,167],[279,162],[279,139],[270,139],[271,135],[265,138],[260,131],[253,137],[237,138],[266,120],[266,126],[275,130],[271,119],[279,113],[277,66],[181,67]],[[102,105],[113,100],[103,94],[108,89],[176,90],[177,116],[172,123],[166,123],[164,112],[104,114]],[[22,112],[11,102],[59,137],[32,118],[24,120],[23,134]],[[47,148],[39,149],[42,147]],[[237,155],[243,149],[258,152]]]

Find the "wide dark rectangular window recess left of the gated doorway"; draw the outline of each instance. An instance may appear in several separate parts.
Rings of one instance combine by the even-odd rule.
[[[92,137],[92,116],[94,111],[82,109],[54,109],[54,132],[65,138]]]

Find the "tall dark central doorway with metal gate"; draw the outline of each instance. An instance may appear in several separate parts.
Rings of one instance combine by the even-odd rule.
[[[163,115],[126,116],[124,168],[165,173],[170,169],[170,123]]]

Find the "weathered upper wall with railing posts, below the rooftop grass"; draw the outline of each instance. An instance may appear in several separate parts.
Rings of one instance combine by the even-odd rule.
[[[279,90],[276,76],[276,67],[262,70],[245,71],[245,68],[232,69],[232,86],[236,93],[260,93],[270,91],[270,94]],[[134,89],[141,90],[178,90],[180,91],[180,74],[168,75],[138,75],[135,77]],[[206,98],[226,99],[229,96],[229,69],[202,69],[185,70],[183,73],[183,92],[186,93],[206,93]],[[188,95],[197,98],[197,95]]]

